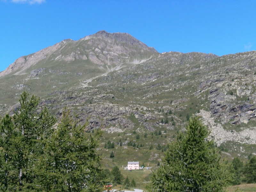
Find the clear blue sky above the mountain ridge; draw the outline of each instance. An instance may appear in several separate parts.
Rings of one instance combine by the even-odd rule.
[[[252,51],[255,10],[255,0],[0,0],[0,71],[100,30],[129,33],[158,52]]]

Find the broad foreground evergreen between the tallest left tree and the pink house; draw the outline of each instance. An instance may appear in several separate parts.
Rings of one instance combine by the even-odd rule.
[[[89,137],[86,124],[63,111],[58,128],[37,164],[37,186],[42,191],[102,191],[100,157],[96,152],[101,131]]]

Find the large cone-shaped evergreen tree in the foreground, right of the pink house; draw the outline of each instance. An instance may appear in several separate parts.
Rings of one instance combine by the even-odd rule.
[[[209,132],[198,118],[189,119],[162,163],[151,175],[149,191],[221,191],[231,178]]]

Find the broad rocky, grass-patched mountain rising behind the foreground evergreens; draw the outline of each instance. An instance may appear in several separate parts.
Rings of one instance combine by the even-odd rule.
[[[256,52],[224,56],[158,53],[127,33],[63,40],[22,56],[0,73],[0,113],[24,90],[57,116],[66,106],[91,129],[175,135],[201,116],[216,145],[250,152],[256,143]]]

